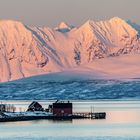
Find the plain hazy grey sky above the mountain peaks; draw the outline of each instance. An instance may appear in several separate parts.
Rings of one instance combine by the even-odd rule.
[[[140,24],[139,5],[140,0],[0,0],[0,19],[55,27],[61,21],[78,26],[118,16]]]

